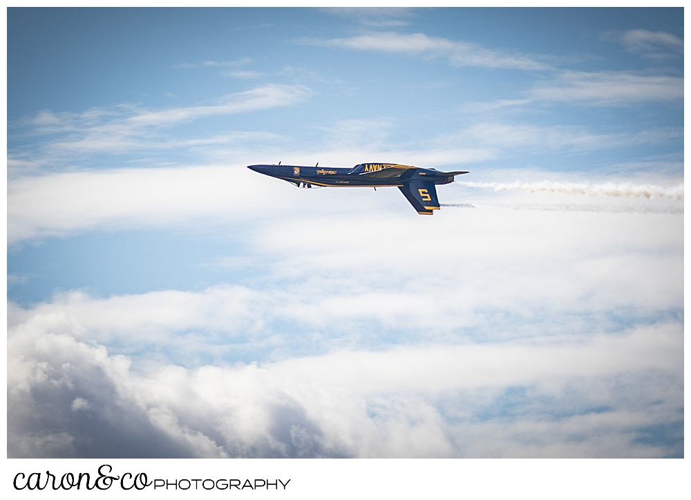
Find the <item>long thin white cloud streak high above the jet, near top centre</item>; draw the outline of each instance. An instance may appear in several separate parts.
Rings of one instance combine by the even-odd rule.
[[[451,66],[516,68],[521,70],[545,70],[549,68],[547,64],[525,55],[487,49],[479,44],[471,44],[466,41],[428,37],[422,33],[403,35],[396,32],[380,32],[372,35],[330,40],[302,39],[301,43],[325,47],[343,47],[356,50],[418,55],[428,59],[442,57],[447,59]]]

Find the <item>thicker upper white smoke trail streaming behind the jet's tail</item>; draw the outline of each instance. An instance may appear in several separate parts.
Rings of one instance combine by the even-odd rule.
[[[562,193],[567,195],[588,195],[588,196],[635,196],[636,198],[672,198],[674,200],[684,199],[684,185],[679,184],[674,187],[660,187],[652,185],[636,184],[577,184],[575,182],[512,182],[504,184],[501,182],[462,182],[457,181],[468,187],[484,189],[494,189],[494,191],[508,191],[509,189],[520,189],[521,191],[546,191],[548,193]]]

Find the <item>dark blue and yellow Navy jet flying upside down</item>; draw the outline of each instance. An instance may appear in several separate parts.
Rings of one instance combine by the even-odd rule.
[[[301,188],[316,186],[336,187],[378,187],[396,186],[408,199],[417,213],[433,215],[439,210],[437,184],[453,182],[455,175],[468,173],[439,172],[435,169],[420,169],[417,166],[393,163],[361,163],[351,168],[335,166],[297,165],[249,165],[248,169],[277,179],[287,180]]]

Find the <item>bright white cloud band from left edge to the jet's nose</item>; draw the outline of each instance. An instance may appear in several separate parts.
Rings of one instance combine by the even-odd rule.
[[[261,189],[256,183],[260,182]],[[21,177],[8,186],[8,242],[95,227],[258,215],[280,185],[245,166],[114,169]],[[287,200],[286,200],[287,202]]]

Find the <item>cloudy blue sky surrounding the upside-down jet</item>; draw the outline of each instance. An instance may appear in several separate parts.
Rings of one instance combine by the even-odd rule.
[[[681,456],[683,10],[10,9],[8,323],[9,456]]]

